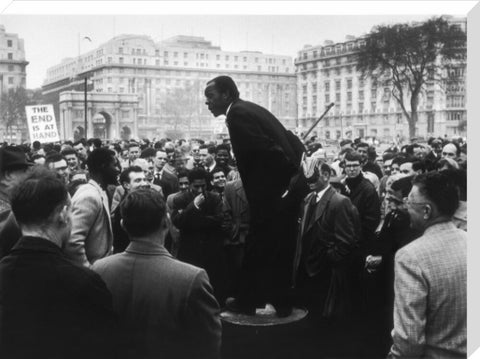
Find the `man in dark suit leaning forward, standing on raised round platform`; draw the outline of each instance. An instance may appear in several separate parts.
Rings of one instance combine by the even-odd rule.
[[[205,88],[210,112],[226,115],[251,213],[239,296],[227,302],[227,309],[255,314],[257,306],[269,302],[277,315],[285,316],[291,311],[287,290],[300,202],[289,185],[298,173],[301,148],[274,115],[239,96],[228,76],[214,78]]]

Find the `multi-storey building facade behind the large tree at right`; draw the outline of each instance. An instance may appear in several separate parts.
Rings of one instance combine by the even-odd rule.
[[[466,30],[466,19],[448,20]],[[298,52],[300,132],[307,131],[333,102],[316,128],[320,138],[408,139],[408,123],[391,94],[391,84],[381,77],[363,78],[356,69],[355,54],[364,43],[364,38],[347,36],[344,42],[326,40]],[[420,95],[416,136],[465,136],[465,70],[466,61],[445,64],[438,59]]]

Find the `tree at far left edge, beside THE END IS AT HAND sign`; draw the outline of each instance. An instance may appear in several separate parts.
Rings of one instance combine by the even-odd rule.
[[[27,105],[27,93],[23,87],[10,89],[3,93],[0,99],[0,120],[5,126],[6,137],[10,142],[13,136],[13,127],[25,127],[26,115],[25,106]]]

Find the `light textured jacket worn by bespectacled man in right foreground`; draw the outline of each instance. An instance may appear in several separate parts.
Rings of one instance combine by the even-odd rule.
[[[395,256],[389,358],[467,357],[467,234],[435,224]]]

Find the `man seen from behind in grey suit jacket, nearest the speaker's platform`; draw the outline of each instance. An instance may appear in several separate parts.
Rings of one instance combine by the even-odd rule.
[[[206,272],[173,259],[165,249],[168,218],[160,193],[131,192],[120,213],[131,243],[93,269],[112,292],[124,357],[217,358],[218,303]]]

